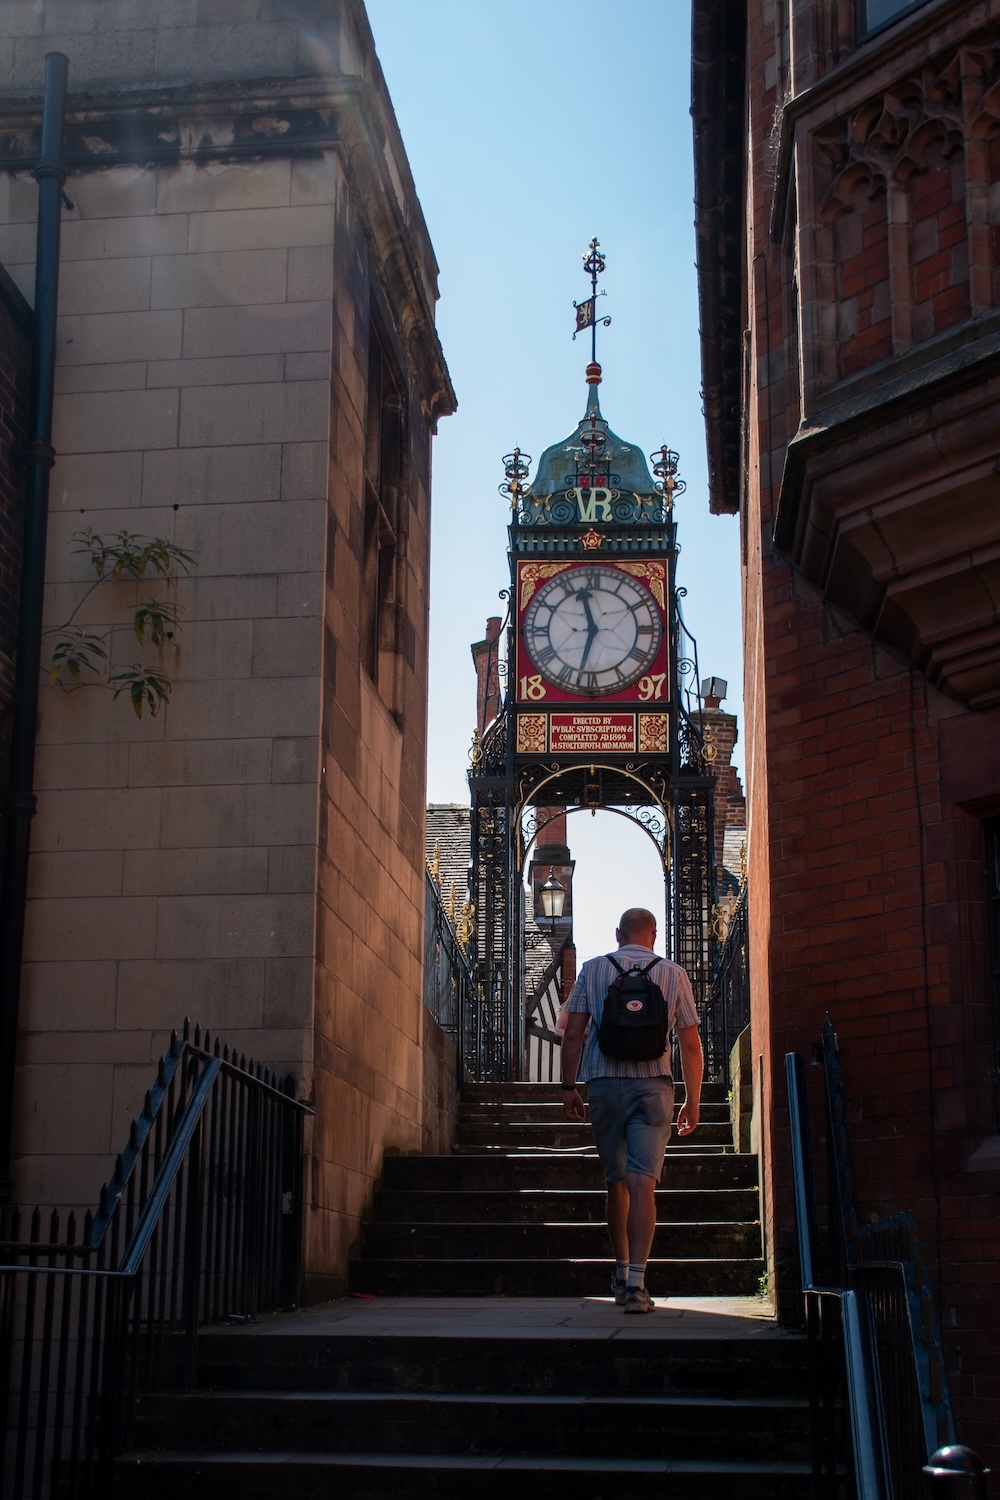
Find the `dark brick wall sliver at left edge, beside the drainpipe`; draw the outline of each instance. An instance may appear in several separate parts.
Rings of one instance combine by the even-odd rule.
[[[30,374],[30,310],[0,267],[0,790],[9,772],[24,525],[24,468],[10,450],[27,438]]]

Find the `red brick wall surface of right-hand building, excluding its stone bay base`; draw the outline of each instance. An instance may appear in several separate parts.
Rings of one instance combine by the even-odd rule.
[[[903,46],[889,36],[870,50],[865,70],[865,54],[852,62],[850,6],[837,8],[837,27],[816,24],[820,8],[790,10],[792,60],[771,4],[751,4],[748,45],[745,738],[754,1074],[771,1270],[790,1311],[796,1269],[783,1058],[796,1048],[808,1059],[829,1011],[841,1041],[862,1216],[916,1214],[960,1437],[991,1464],[997,1492],[1000,1137],[982,820],[1000,813],[1000,710],[970,712],[939,692],[919,657],[907,663],[879,645],[772,538],[801,416],[820,428],[837,402],[891,380],[894,356],[916,370],[925,340],[967,330],[973,314],[990,316],[975,270],[985,232],[979,184],[996,180],[1000,158],[975,142],[963,154],[954,135],[928,126],[909,165],[889,171],[889,147],[919,122],[910,99],[900,106],[900,117],[912,111],[909,123],[889,123],[892,99],[906,98],[892,93],[894,80],[906,66],[924,69],[921,98],[933,98],[945,66],[939,54],[915,42],[918,62],[901,63]],[[1000,20],[1000,8],[954,4],[936,16],[949,62],[963,28]],[[930,12],[907,21],[930,24]],[[840,92],[823,93],[823,74],[849,63]],[[775,110],[790,82],[795,92],[819,92],[808,129],[796,135],[798,219],[777,243]],[[879,112],[865,99],[889,104]],[[972,105],[963,108],[972,117]],[[853,135],[844,134],[849,120]],[[852,171],[859,140],[868,165],[861,171],[855,160]],[[877,150],[886,153],[888,186],[871,170]],[[987,228],[996,238],[988,216]],[[912,432],[933,434],[936,420],[918,411]],[[967,441],[978,441],[972,426]],[[850,440],[841,447],[847,452]],[[934,462],[931,450],[925,464]],[[943,471],[963,462],[961,442],[951,446]],[[874,466],[868,474],[874,504],[880,482]],[[885,476],[882,483],[891,489]],[[942,507],[958,525],[961,501],[943,498]],[[825,524],[834,530],[837,519]],[[934,544],[927,530],[921,537],[930,564]],[[814,1137],[823,1142],[814,1078]],[[822,1179],[819,1188],[823,1196]]]

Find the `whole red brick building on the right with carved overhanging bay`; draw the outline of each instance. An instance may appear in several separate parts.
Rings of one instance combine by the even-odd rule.
[[[1000,3],[694,0],[693,70],[772,1275],[790,1294],[783,1056],[829,1011],[862,1216],[913,1208],[996,1473]]]

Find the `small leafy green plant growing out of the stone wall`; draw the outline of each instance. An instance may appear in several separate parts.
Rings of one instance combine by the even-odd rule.
[[[189,573],[196,567],[195,558],[165,537],[144,537],[127,530],[117,531],[112,537],[102,537],[87,526],[85,531],[75,531],[72,542],[73,552],[82,552],[90,558],[96,579],[69,620],[46,632],[55,638],[48,674],[49,686],[106,687],[115,698],[126,693],[138,718],[142,717],[144,708],[156,716],[169,700],[172,687],[169,676],[145,662],[133,662],[112,672],[111,644],[115,633],[130,632],[139,645],[145,645],[148,638],[150,645],[163,646],[180,628],[177,604],[171,598],[139,598],[130,621],[108,626],[103,632],[82,628],[73,621],[96,588],[123,580],[162,579],[169,591],[180,572]]]

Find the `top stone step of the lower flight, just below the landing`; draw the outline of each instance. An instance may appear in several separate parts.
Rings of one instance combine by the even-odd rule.
[[[607,1298],[610,1266],[600,1266]],[[756,1290],[756,1287],[754,1287]],[[573,1308],[573,1304],[568,1304]],[[615,1311],[615,1316],[618,1312]],[[309,1320],[312,1314],[303,1312]],[[558,1338],[477,1334],[375,1336],[253,1329],[205,1330],[198,1341],[198,1383],[237,1392],[384,1392],[510,1396],[753,1396],[804,1395],[808,1347],[804,1335],[739,1332],[685,1336],[651,1318],[622,1318],[616,1336],[561,1332]],[[183,1354],[183,1352],[181,1352]]]

